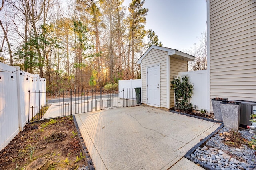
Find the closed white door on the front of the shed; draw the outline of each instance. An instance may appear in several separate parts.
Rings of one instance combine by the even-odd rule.
[[[147,68],[148,105],[160,107],[160,66]]]

